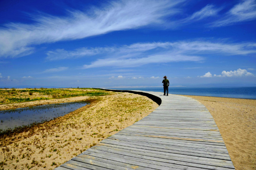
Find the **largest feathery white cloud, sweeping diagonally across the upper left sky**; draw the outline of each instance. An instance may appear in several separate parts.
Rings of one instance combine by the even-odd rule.
[[[7,23],[0,28],[0,57],[28,55],[35,45],[42,43],[82,39],[152,24],[160,26],[165,24],[167,16],[178,12],[176,6],[183,1],[121,0],[106,3],[102,8],[91,8],[90,11],[68,11],[68,15],[62,17],[46,14],[33,16],[32,24]],[[90,50],[86,52],[91,53]],[[67,56],[70,55],[76,56]]]

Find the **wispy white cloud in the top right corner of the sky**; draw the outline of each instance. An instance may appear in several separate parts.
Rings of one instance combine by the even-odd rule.
[[[256,18],[255,0],[243,0],[230,9],[221,19],[210,24],[212,27],[221,27],[236,24],[243,21],[251,21]]]

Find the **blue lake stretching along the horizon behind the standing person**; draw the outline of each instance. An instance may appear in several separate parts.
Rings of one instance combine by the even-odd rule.
[[[163,87],[115,89],[164,92]],[[256,99],[256,87],[169,87],[169,94]]]

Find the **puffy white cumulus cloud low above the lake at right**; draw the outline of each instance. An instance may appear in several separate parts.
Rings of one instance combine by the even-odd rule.
[[[238,68],[237,70],[234,71],[222,71],[222,73],[220,75],[216,75],[214,74],[214,76],[212,76],[212,74],[208,71],[207,73],[205,73],[203,76],[198,76],[200,78],[209,78],[209,77],[246,77],[246,76],[254,76],[253,73],[248,72],[245,69],[241,69]]]

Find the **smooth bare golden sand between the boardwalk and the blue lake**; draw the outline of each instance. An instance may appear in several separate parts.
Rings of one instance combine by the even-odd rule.
[[[185,95],[182,95],[185,96]],[[211,113],[236,170],[256,169],[256,100],[192,97]]]

